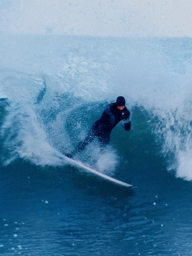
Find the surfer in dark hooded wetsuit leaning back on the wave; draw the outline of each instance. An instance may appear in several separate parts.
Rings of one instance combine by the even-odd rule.
[[[77,149],[66,154],[73,157],[74,154],[84,149],[95,137],[98,137],[102,145],[107,145],[110,141],[110,133],[120,121],[123,121],[124,129],[131,129],[130,111],[125,107],[125,98],[119,96],[116,102],[109,103],[103,111],[101,117],[93,124],[84,141],[78,143]]]

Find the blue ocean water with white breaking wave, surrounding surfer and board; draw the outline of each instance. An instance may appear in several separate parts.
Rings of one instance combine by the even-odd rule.
[[[191,255],[191,39],[1,36],[0,254]],[[108,102],[132,129],[69,166]]]

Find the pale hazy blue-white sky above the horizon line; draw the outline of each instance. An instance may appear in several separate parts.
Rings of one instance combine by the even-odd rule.
[[[1,34],[192,37],[192,0],[0,0]]]

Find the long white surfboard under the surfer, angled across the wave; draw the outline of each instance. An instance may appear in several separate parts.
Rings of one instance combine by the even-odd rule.
[[[82,162],[80,161],[77,161],[75,159],[72,159],[72,158],[69,158],[67,156],[63,156],[64,159],[66,159],[66,162],[71,165],[71,166],[74,166],[74,167],[77,167],[78,169],[82,169],[83,171],[86,171],[87,173],[90,173],[90,174],[93,174],[93,175],[96,175],[97,177],[101,178],[101,179],[104,179],[104,180],[107,180],[109,182],[112,182],[114,183],[115,185],[118,185],[118,186],[122,186],[122,187],[133,187],[133,185],[129,184],[129,183],[126,183],[124,181],[121,181],[121,180],[117,180],[113,177],[110,177],[108,176],[107,174],[104,174],[104,173],[101,173],[95,169],[93,169],[91,166],[88,166],[88,165],[85,165],[83,164]]]

